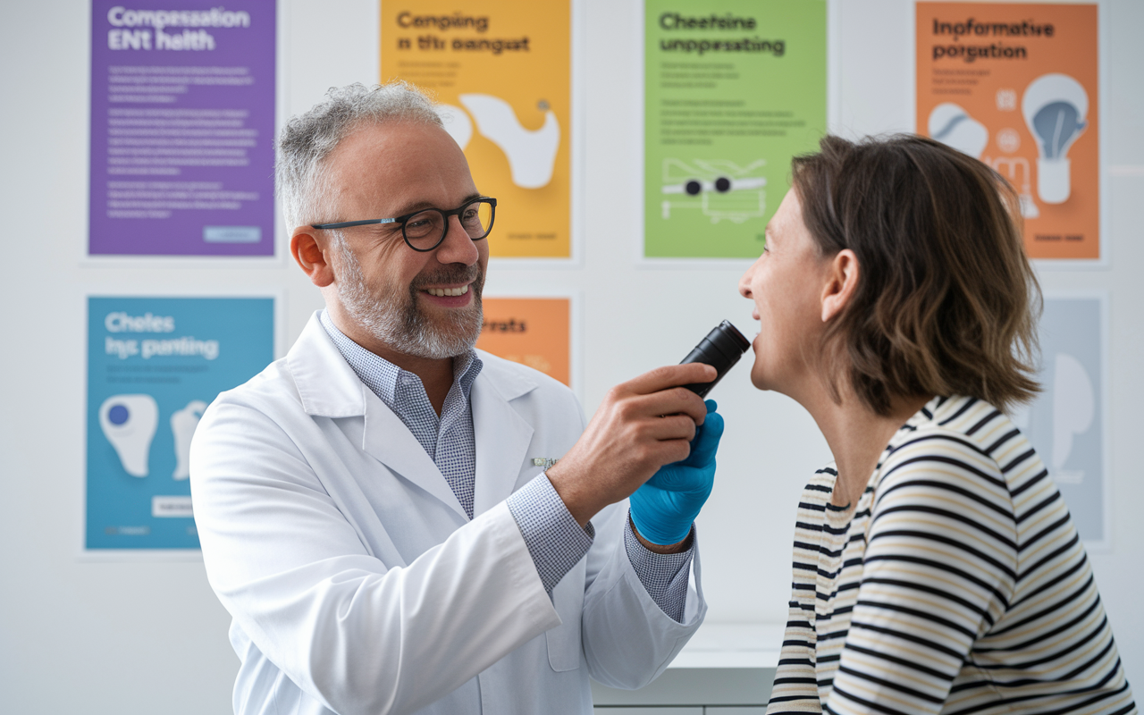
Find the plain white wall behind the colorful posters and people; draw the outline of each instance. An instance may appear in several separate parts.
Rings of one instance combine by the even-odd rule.
[[[1135,448],[1144,356],[1144,3],[1110,0],[1106,23],[1106,152],[1110,210],[1106,270],[1041,269],[1046,288],[1112,294],[1113,549],[1093,555],[1129,678],[1144,688],[1144,477]],[[285,111],[332,85],[376,80],[376,3],[288,0],[281,67]],[[0,227],[7,269],[0,305],[0,697],[3,709],[37,713],[225,713],[237,659],[229,618],[197,561],[77,559],[84,479],[86,289],[225,288],[286,295],[289,344],[317,292],[286,260],[81,262],[86,241],[89,9],[79,0],[5,3],[0,9]],[[583,384],[590,413],[604,391],[678,360],[720,319],[752,325],[736,283],[748,262],[716,270],[638,268],[641,61],[638,3],[589,0],[583,42],[587,166],[581,268],[494,264],[487,292],[558,286],[583,296]],[[847,135],[913,126],[912,3],[845,0],[832,9],[835,130]],[[1127,168],[1125,168],[1127,167]],[[1135,168],[1133,168],[1135,167]],[[281,240],[281,235],[279,235]],[[280,245],[279,251],[283,251]],[[749,388],[746,362],[715,392],[726,415],[718,483],[700,517],[710,621],[780,621],[789,585],[797,494],[829,459],[797,405]]]

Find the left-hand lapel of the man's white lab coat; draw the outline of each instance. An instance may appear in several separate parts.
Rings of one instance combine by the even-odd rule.
[[[445,502],[468,521],[437,464],[400,418],[373,394],[329,339],[316,312],[286,356],[302,407],[324,418],[365,420],[362,448],[382,464]]]

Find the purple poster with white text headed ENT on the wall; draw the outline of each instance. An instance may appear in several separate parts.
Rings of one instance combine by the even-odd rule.
[[[270,256],[275,0],[93,0],[90,255]]]

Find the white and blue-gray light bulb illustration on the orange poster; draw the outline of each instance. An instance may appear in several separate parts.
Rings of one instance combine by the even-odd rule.
[[[1088,127],[1088,93],[1067,74],[1042,74],[1025,89],[1020,111],[1041,153],[1036,160],[1036,193],[1046,204],[1063,204],[1072,193],[1065,154]]]

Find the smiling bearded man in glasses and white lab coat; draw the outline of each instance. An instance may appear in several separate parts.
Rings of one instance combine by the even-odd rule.
[[[496,205],[415,89],[332,89],[278,149],[326,310],[191,448],[235,712],[589,714],[589,676],[650,682],[706,611],[722,418],[678,386],[715,370],[620,384],[586,427],[562,384],[474,350]]]

